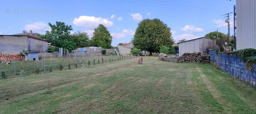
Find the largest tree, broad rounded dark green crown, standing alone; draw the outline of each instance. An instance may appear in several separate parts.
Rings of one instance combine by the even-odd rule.
[[[160,46],[170,47],[173,44],[170,30],[160,19],[144,19],[138,24],[132,43],[151,56],[152,52],[159,52]]]

